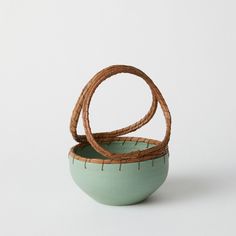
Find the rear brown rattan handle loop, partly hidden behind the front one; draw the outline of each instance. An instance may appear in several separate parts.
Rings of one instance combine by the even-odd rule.
[[[107,69],[101,70],[87,83],[87,85],[84,87],[84,89],[83,89],[82,93],[80,94],[80,97],[73,109],[71,121],[70,121],[70,131],[71,131],[73,138],[77,142],[86,142],[87,141],[86,135],[78,135],[78,133],[77,133],[78,121],[79,121],[81,110],[82,110],[82,107],[84,104],[84,99],[85,99],[85,97],[87,97],[87,93],[88,93],[88,91],[90,91],[90,88],[95,85],[97,78],[100,76],[103,76],[104,73],[106,73],[106,71],[107,71]],[[158,103],[157,98],[156,98],[154,92],[152,91],[151,107],[150,107],[148,113],[142,119],[140,119],[139,121],[137,121],[136,123],[134,123],[132,125],[122,128],[122,129],[114,130],[111,132],[94,133],[93,134],[94,138],[96,140],[114,138],[114,137],[117,137],[120,135],[128,134],[130,132],[133,132],[133,131],[139,129],[141,126],[148,123],[152,119],[153,115],[156,112],[157,103]]]

